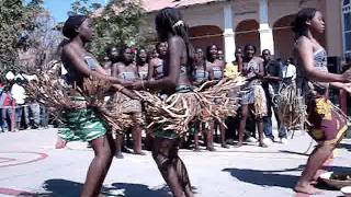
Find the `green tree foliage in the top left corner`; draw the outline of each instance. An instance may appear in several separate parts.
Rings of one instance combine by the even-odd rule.
[[[29,35],[36,27],[37,13],[43,11],[43,0],[0,0],[0,73],[19,69],[19,48],[29,48],[35,43]]]

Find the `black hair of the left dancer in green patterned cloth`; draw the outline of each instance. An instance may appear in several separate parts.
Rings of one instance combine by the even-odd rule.
[[[86,21],[86,15],[70,15],[63,27],[65,37],[71,39],[78,35],[77,28]]]

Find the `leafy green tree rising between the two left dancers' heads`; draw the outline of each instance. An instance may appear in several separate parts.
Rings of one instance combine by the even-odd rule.
[[[88,5],[87,0],[77,0],[70,13],[92,16],[95,37],[89,49],[103,60],[109,46],[145,45],[146,40],[139,35],[139,26],[144,22],[140,4],[140,0],[110,0],[102,9],[99,3]]]

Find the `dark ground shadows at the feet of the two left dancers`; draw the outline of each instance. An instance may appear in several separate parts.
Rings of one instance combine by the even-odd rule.
[[[77,197],[82,189],[82,183],[71,182],[67,179],[47,179],[43,188],[45,196],[49,197]],[[49,193],[49,195],[47,195]],[[112,187],[103,187],[102,195],[106,196],[126,196],[126,197],[168,197],[169,189],[163,186],[158,189],[150,189],[147,185],[132,184],[132,183],[114,183]],[[39,194],[31,196],[42,196]]]

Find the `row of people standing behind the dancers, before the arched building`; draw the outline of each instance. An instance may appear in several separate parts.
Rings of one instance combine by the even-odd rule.
[[[103,69],[106,74],[115,77],[123,82],[133,82],[136,79],[144,81],[157,80],[162,78],[167,72],[163,69],[167,50],[168,44],[166,42],[158,43],[155,49],[149,51],[144,48],[112,46],[106,49],[106,62]],[[239,116],[235,118],[228,117],[228,129],[217,124],[215,119],[199,120],[191,128],[192,131],[189,132],[188,140],[183,143],[184,147],[199,151],[199,140],[200,137],[203,137],[206,149],[214,151],[213,142],[217,132],[217,136],[220,136],[218,142],[223,148],[229,148],[227,143],[234,144],[234,140],[238,140],[238,143],[235,144],[236,147],[242,146],[245,138],[249,142],[257,142],[256,128],[246,127],[247,121],[250,121],[248,126],[251,126],[251,123],[257,123],[259,146],[268,147],[272,142],[287,142],[286,128],[280,121],[275,99],[283,85],[294,83],[296,78],[296,68],[293,65],[294,60],[292,58],[285,61],[281,59],[274,60],[271,57],[270,50],[264,49],[262,54],[258,54],[253,45],[247,45],[244,48],[238,47],[235,56],[236,61],[225,62],[223,51],[216,45],[210,45],[205,50],[202,48],[193,50],[191,80],[194,86],[200,86],[208,80],[220,80],[224,77],[230,78],[238,73],[251,78],[252,81],[242,88],[241,107],[237,113]],[[254,99],[253,91],[257,91],[257,89],[262,94],[260,97]],[[258,105],[256,102],[262,105],[262,101],[265,101],[265,106],[263,106],[261,112],[256,112],[254,106]],[[133,103],[133,105],[137,104]],[[124,108],[125,113],[135,114],[133,116],[135,118],[140,116],[141,111],[131,111],[131,107],[127,106]],[[272,109],[279,128],[279,136],[276,137],[272,132]],[[131,130],[134,153],[143,154],[141,131],[144,128],[134,126]],[[118,143],[122,143],[125,137],[121,138],[117,140],[120,141]],[[145,142],[147,143],[147,137]],[[146,144],[145,147],[148,146]],[[122,149],[118,148],[118,150]],[[122,157],[121,151],[117,151],[116,155],[118,158]]]

